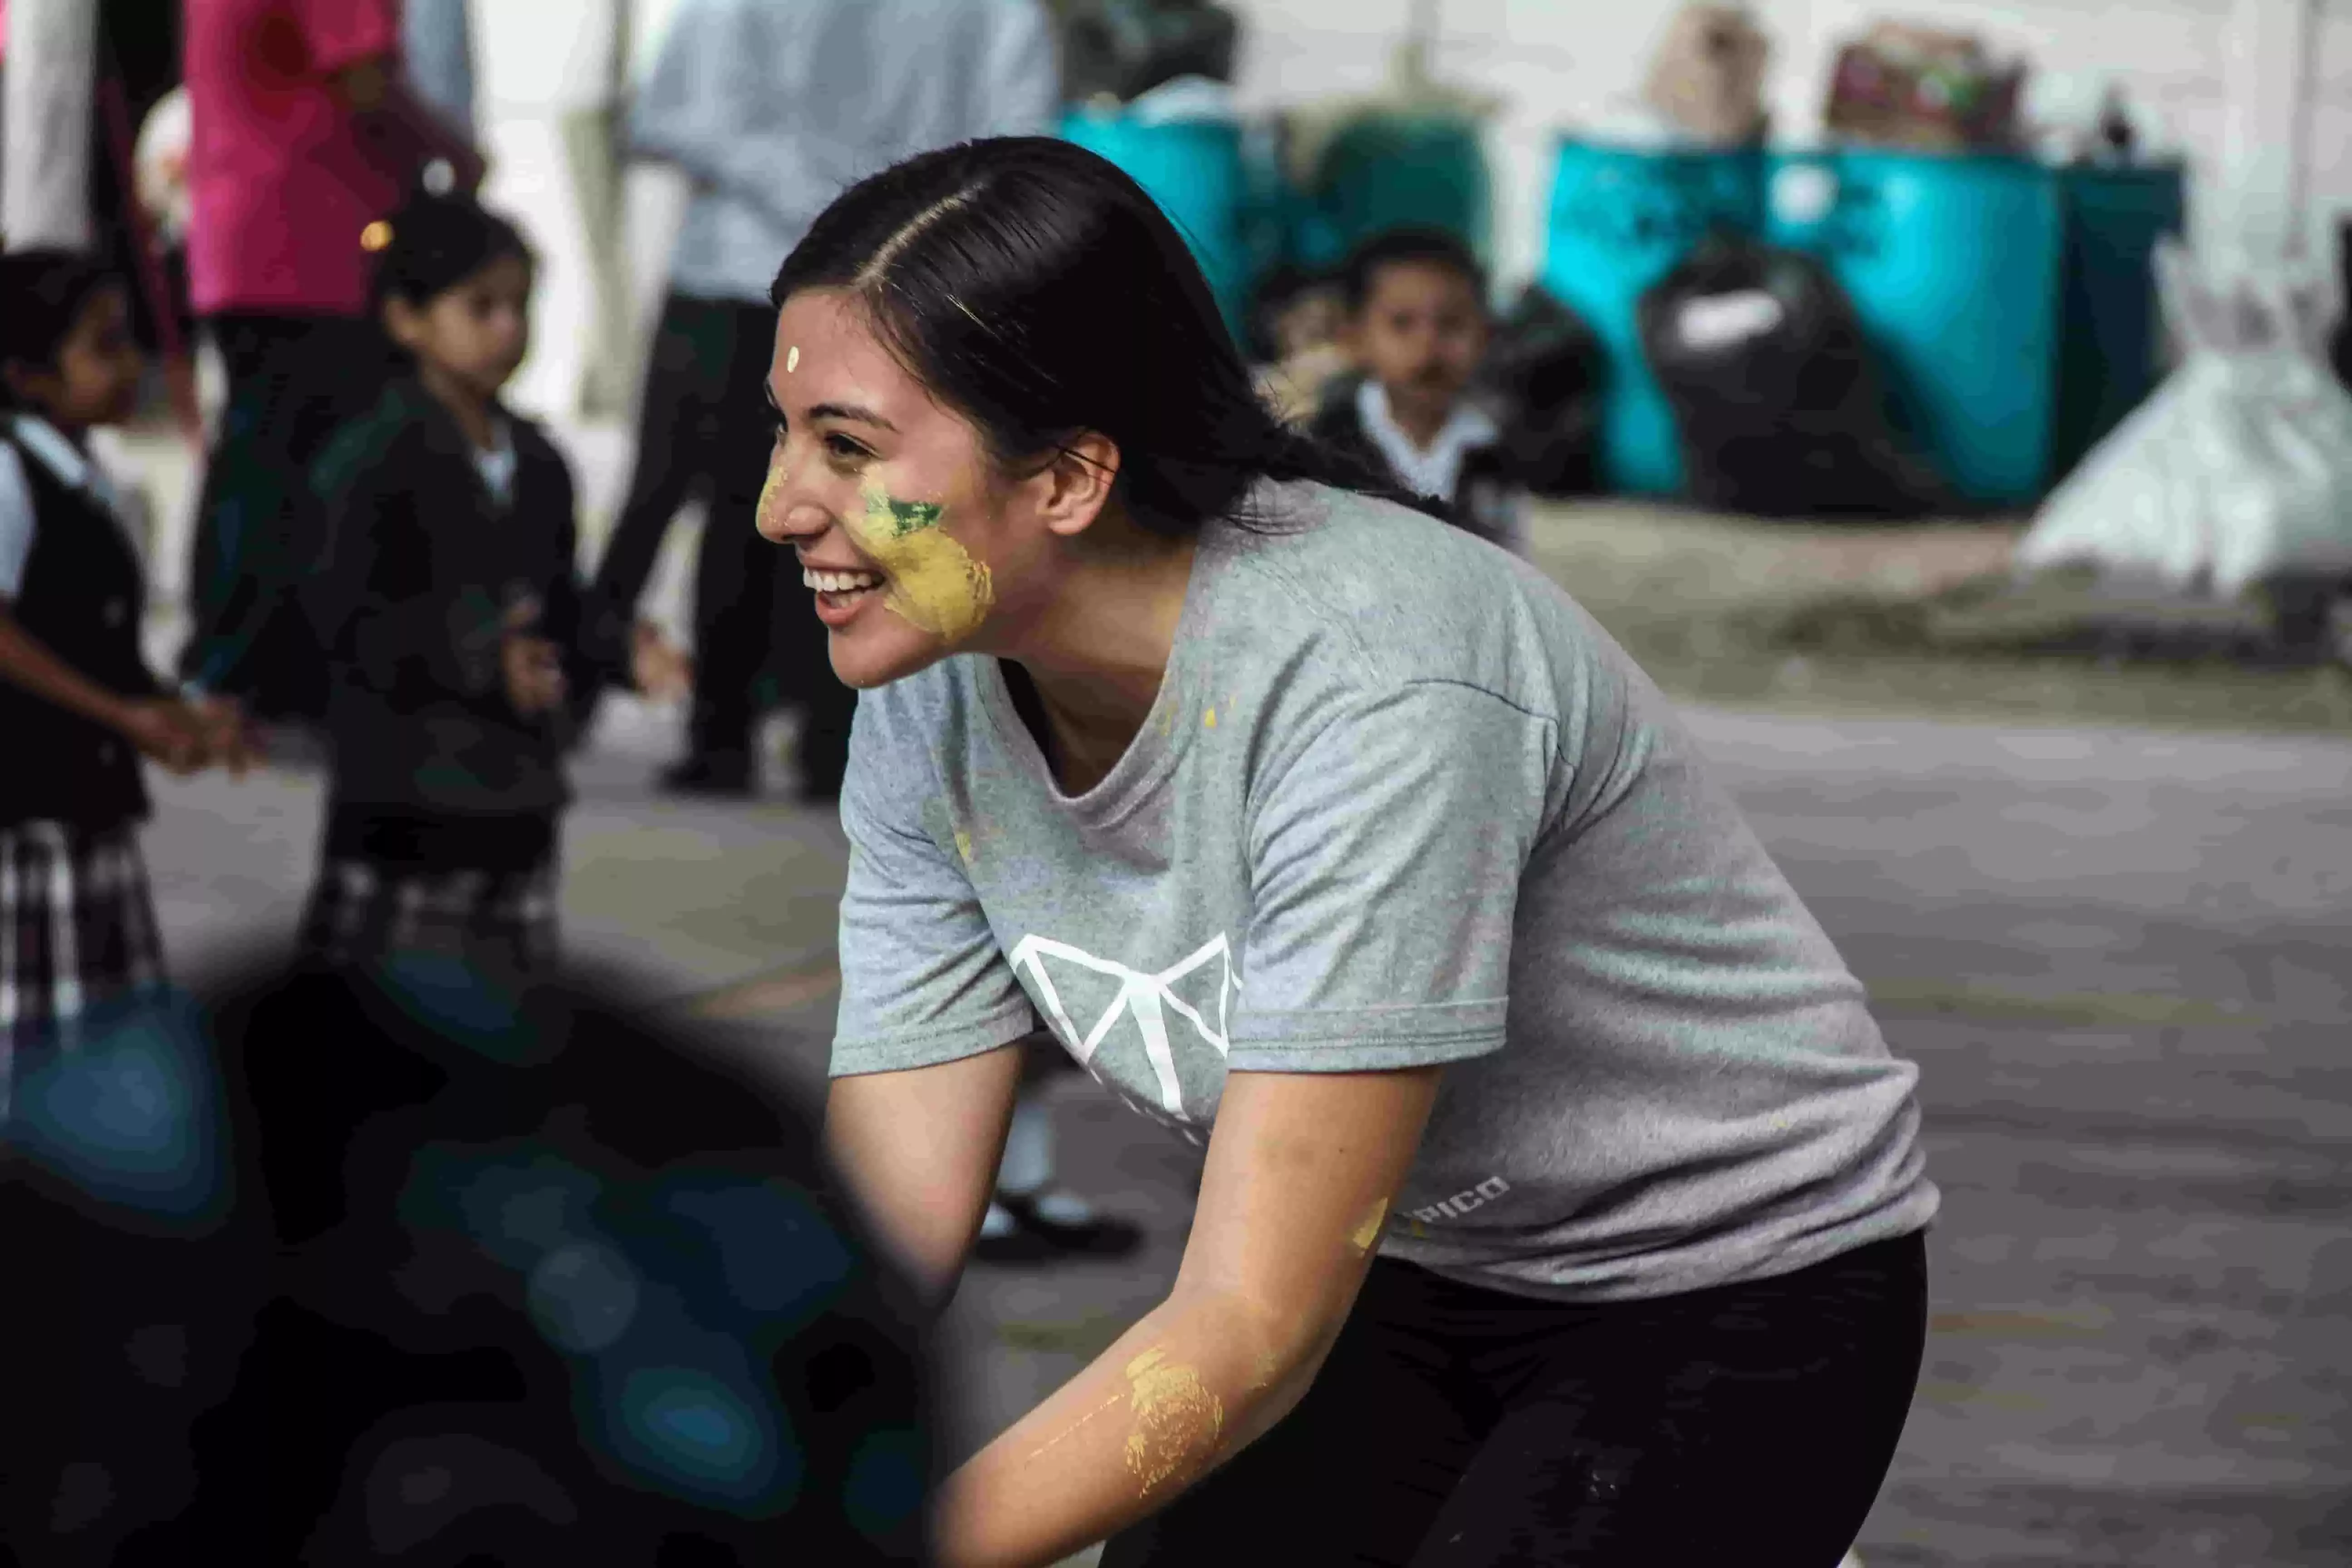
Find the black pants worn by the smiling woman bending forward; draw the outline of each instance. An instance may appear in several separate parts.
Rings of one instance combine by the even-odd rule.
[[[1835,1568],[1926,1342],[1926,1244],[1564,1307],[1371,1265],[1301,1406],[1103,1568]]]

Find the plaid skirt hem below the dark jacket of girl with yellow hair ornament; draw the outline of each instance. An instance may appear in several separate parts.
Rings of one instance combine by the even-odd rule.
[[[327,856],[299,945],[334,966],[430,954],[496,978],[541,973],[557,959],[555,856],[520,870]]]

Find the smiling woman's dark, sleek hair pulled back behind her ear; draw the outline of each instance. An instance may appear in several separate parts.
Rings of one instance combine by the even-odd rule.
[[[1275,416],[1176,228],[1068,141],[969,141],[851,186],[769,296],[802,289],[854,294],[1007,468],[1089,430],[1115,442],[1117,494],[1157,534],[1235,517],[1258,480],[1402,498]]]

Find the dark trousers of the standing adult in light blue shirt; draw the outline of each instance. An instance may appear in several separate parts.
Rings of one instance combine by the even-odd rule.
[[[628,611],[689,496],[708,510],[694,571],[691,745],[713,762],[750,755],[760,684],[804,715],[802,776],[837,785],[849,759],[856,693],[833,675],[826,628],[790,550],[753,529],[776,442],[764,383],[776,313],[673,294],[654,334],[637,425],[637,468],[595,590]],[[586,717],[586,715],[583,715]]]

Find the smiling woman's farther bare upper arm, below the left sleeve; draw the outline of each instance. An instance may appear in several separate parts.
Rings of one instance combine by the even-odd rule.
[[[826,1093],[826,1154],[931,1305],[964,1272],[1004,1159],[1021,1041],[936,1067],[861,1072]]]

